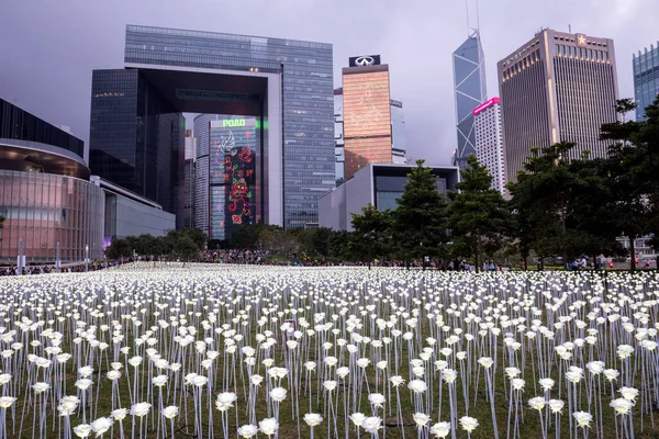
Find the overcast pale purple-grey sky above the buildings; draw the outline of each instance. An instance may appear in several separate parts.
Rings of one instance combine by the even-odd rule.
[[[456,147],[450,55],[468,35],[463,0],[0,2],[0,97],[86,143],[91,70],[122,68],[125,25],[145,24],[332,43],[336,87],[349,56],[380,54],[409,155],[447,165]],[[490,97],[496,61],[540,27],[613,38],[621,97],[633,95],[632,53],[659,40],[659,0],[480,0],[479,12]]]

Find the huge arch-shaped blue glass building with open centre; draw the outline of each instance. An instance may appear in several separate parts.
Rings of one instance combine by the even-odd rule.
[[[335,184],[331,44],[129,25],[124,67],[93,72],[92,172],[180,226],[181,113],[250,119],[255,215],[287,228],[317,222],[317,198]],[[199,154],[210,136],[196,135]]]

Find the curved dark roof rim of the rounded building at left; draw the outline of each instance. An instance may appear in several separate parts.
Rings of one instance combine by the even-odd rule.
[[[46,172],[89,180],[85,160],[75,153],[38,142],[0,138],[0,169]]]

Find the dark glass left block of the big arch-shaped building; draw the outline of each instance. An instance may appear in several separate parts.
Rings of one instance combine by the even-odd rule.
[[[185,131],[183,115],[139,70],[94,70],[89,138],[94,175],[176,214]]]

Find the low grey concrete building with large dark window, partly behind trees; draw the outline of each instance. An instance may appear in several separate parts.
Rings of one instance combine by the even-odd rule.
[[[353,230],[353,213],[371,203],[379,211],[395,210],[402,196],[407,173],[415,165],[368,164],[348,181],[319,199],[319,226],[335,230]],[[437,190],[446,194],[459,181],[457,167],[429,166],[437,176]]]

